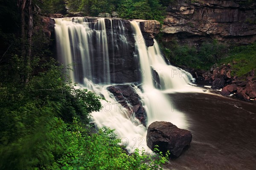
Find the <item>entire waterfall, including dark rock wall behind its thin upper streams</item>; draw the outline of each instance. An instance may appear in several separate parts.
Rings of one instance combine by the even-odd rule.
[[[167,65],[156,41],[154,46],[147,48],[144,39],[141,40],[139,23],[82,17],[55,19],[55,22],[58,58],[66,65],[75,63],[72,65],[74,71],[70,72],[73,82],[110,101],[102,101],[102,111],[92,113],[92,121],[97,127],[115,129],[130,152],[137,147],[149,150],[145,142],[146,127],[135,118],[134,112],[130,114],[107,90],[112,82],[118,82],[128,84],[139,94],[147,113],[147,126],[154,121],[170,121],[177,127],[188,128],[183,113],[172,107],[172,102],[162,90],[183,88],[192,76]],[[127,30],[125,25],[132,27],[132,30]],[[140,41],[136,41],[137,38]],[[132,48],[134,51],[131,53]],[[132,56],[128,57],[130,53]],[[128,62],[131,63],[130,70]],[[143,73],[142,80],[136,79],[137,75],[131,76],[138,70]],[[159,77],[157,84],[160,89],[154,85],[153,70]],[[140,81],[142,90],[132,81]]]

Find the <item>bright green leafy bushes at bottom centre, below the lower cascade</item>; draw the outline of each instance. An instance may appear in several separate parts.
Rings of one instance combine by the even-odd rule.
[[[154,158],[144,152],[140,154],[139,150],[128,156],[108,128],[88,135],[75,120],[70,129],[66,134],[68,149],[53,164],[44,166],[44,170],[155,170],[169,156],[167,153],[166,157]]]

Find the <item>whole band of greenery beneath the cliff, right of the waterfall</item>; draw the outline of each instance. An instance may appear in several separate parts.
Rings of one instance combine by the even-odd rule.
[[[161,39],[163,35],[157,38]],[[243,76],[256,69],[256,42],[247,46],[236,46],[229,52],[227,47],[213,40],[195,47],[180,46],[177,42],[160,43],[166,58],[177,66],[188,66],[194,69],[209,70],[215,63],[232,65],[232,75]]]

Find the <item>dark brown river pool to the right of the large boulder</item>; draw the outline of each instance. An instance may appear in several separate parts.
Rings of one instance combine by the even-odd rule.
[[[256,170],[256,102],[207,93],[169,95],[189,119],[192,142],[170,170]]]

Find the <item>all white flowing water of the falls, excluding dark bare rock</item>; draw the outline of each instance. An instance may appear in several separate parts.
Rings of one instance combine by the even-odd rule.
[[[115,46],[117,37],[119,42],[122,41],[122,46],[125,47],[123,49],[127,47],[125,28],[121,20],[118,22],[118,34],[113,34],[113,31],[116,31],[114,30],[116,27],[114,27],[114,22],[112,23],[111,21],[111,46],[105,43],[107,33],[104,19],[98,19],[94,26],[87,21],[85,22],[83,18],[76,18],[74,22],[70,18],[55,19],[55,22],[60,61],[64,64],[76,63],[76,66],[72,66],[74,72],[70,73],[72,80],[79,82],[81,88],[91,89],[103,95],[109,101],[109,103],[102,101],[102,111],[92,113],[92,122],[97,127],[106,126],[115,129],[115,133],[122,139],[123,144],[127,145],[129,152],[132,152],[137,147],[150,151],[145,141],[146,128],[135,118],[134,113],[131,115],[127,109],[118,104],[113,94],[107,90],[107,87],[110,86],[109,72],[102,76],[103,78],[100,80],[95,81],[93,77],[94,71],[101,72],[109,69],[109,49],[113,51],[114,48],[118,48],[118,46]],[[142,78],[143,92],[137,86],[134,87],[134,90],[140,95],[145,107],[147,126],[154,121],[170,121],[179,128],[187,129],[189,124],[185,115],[175,110],[165,91],[187,88],[192,76],[184,70],[167,65],[156,41],[154,46],[147,48],[145,41],[141,40],[142,33],[138,24],[135,21],[131,22],[135,40],[140,38],[140,41],[135,42],[136,51],[134,52],[134,57],[138,56],[140,58],[140,69],[144,73]],[[96,34],[97,47],[94,47],[90,42],[93,34]],[[91,51],[93,48],[96,48],[96,52]],[[124,50],[124,52],[126,51]],[[95,55],[104,58],[105,61],[104,63],[99,63],[97,68],[94,68],[95,65],[93,64]],[[114,55],[113,58],[115,58]],[[160,77],[161,90],[156,89],[154,86],[155,82],[152,80],[151,69],[154,69]],[[105,85],[102,85],[102,83],[105,83]]]

